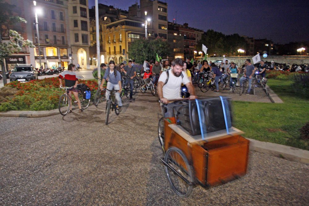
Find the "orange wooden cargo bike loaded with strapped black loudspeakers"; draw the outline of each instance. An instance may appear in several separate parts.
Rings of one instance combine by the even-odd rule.
[[[158,135],[161,161],[177,195],[188,197],[197,184],[215,186],[246,174],[249,141],[231,126],[228,98],[171,101],[181,106],[172,117],[158,114]]]

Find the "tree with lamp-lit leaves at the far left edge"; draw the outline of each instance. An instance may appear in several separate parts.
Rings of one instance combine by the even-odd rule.
[[[12,9],[15,5],[11,5],[4,0],[0,0],[0,25],[13,25],[14,23],[27,23],[27,21],[19,16],[13,16]],[[14,52],[21,51],[21,47],[34,48],[32,41],[24,40],[24,38],[16,31],[9,30],[10,39],[2,41],[0,39],[0,66],[2,67],[3,82],[6,83],[3,59],[9,57]]]

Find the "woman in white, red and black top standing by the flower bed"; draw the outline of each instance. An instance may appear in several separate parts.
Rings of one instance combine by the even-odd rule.
[[[78,78],[76,77],[75,74],[75,65],[74,64],[70,64],[68,66],[68,70],[65,70],[64,72],[62,72],[59,75],[59,86],[62,87],[62,80],[64,78],[65,81],[65,86],[66,87],[72,87],[71,89],[67,89],[67,93],[69,95],[69,97],[72,99],[72,93],[77,101],[78,107],[79,107],[79,112],[82,112],[82,106],[80,104],[80,100],[78,98],[78,89],[77,89],[77,84],[78,84]],[[68,113],[72,112],[72,101],[70,101],[70,110],[68,111]]]

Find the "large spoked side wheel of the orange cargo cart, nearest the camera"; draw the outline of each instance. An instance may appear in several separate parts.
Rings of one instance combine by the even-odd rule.
[[[186,156],[179,148],[170,147],[165,153],[164,161],[174,169],[164,166],[171,188],[178,196],[188,197],[193,188],[193,171]]]

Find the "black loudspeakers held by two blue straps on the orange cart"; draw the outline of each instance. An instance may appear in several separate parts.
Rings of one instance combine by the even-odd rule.
[[[228,97],[186,100],[174,110],[176,123],[192,136],[229,130],[232,127]],[[201,132],[202,131],[202,132]]]

